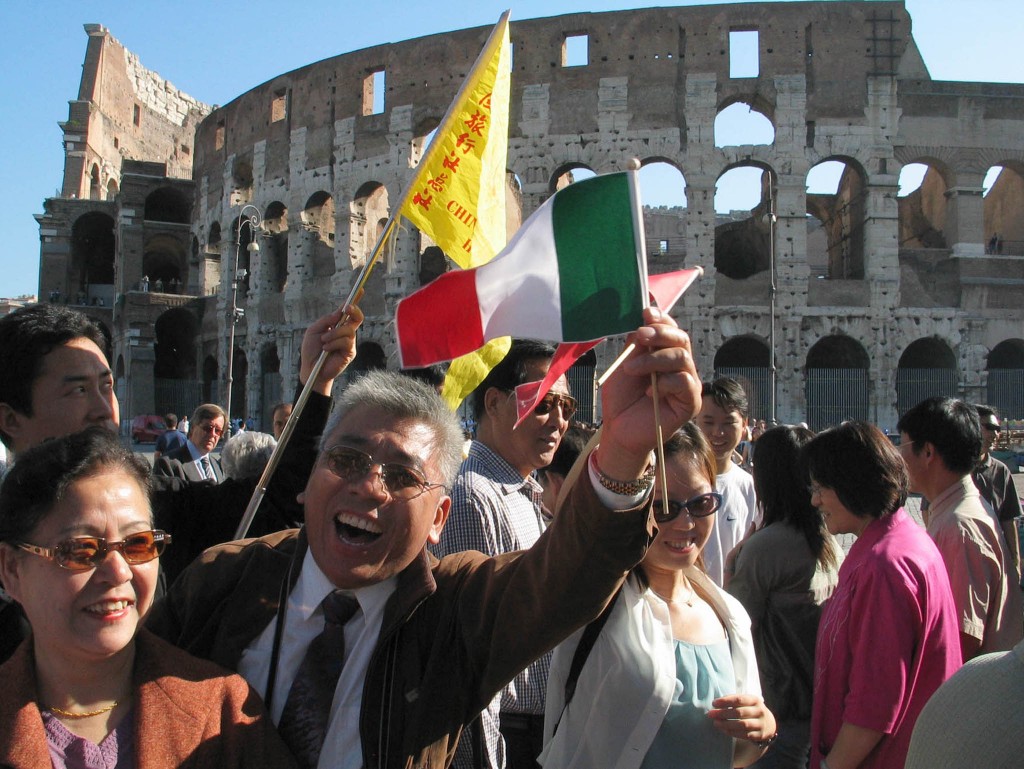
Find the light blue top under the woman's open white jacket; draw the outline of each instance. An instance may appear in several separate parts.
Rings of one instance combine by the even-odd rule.
[[[732,739],[708,718],[712,701],[736,686],[729,642],[675,644],[676,691],[641,769],[730,769]]]

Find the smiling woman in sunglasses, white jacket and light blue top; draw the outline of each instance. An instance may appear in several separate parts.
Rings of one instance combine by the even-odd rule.
[[[692,423],[665,444],[657,535],[599,620],[555,649],[546,767],[729,769],[775,736],[750,620],[703,572],[715,525],[715,458]]]

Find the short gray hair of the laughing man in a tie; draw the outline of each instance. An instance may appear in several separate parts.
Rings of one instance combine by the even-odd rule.
[[[396,372],[371,371],[341,391],[324,428],[321,451],[330,447],[331,436],[350,411],[379,409],[396,420],[411,420],[427,427],[434,435],[431,446],[449,486],[462,465],[462,427],[441,396],[428,385]]]

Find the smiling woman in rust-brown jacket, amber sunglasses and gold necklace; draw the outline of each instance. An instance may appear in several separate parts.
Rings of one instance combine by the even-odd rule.
[[[241,677],[140,630],[170,539],[148,468],[105,429],[18,455],[0,581],[32,636],[0,667],[0,765],[294,766]]]

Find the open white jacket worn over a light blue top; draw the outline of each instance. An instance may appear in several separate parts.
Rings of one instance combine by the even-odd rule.
[[[699,569],[687,575],[702,588],[726,626],[736,678],[733,693],[760,696],[746,611]],[[553,769],[636,769],[676,689],[668,604],[630,575],[583,667],[572,702],[562,713],[565,679],[582,635],[579,630],[555,648],[544,714],[545,745],[538,761]]]

